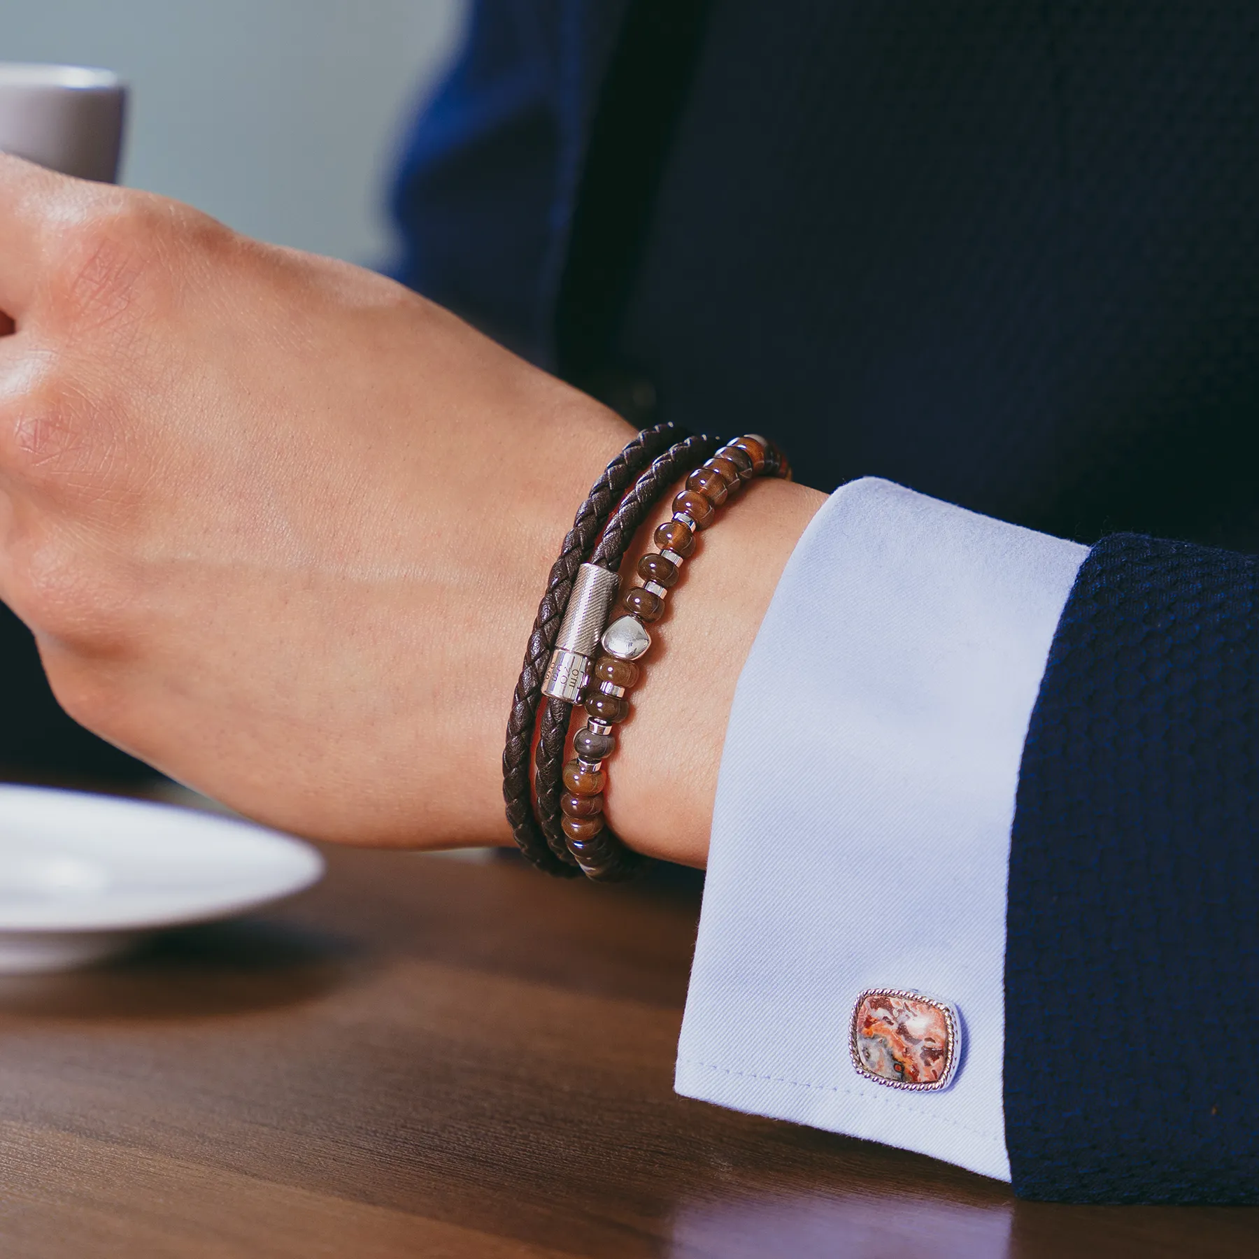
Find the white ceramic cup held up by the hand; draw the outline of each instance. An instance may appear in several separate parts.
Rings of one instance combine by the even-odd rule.
[[[0,150],[112,184],[126,97],[110,71],[0,62]]]

